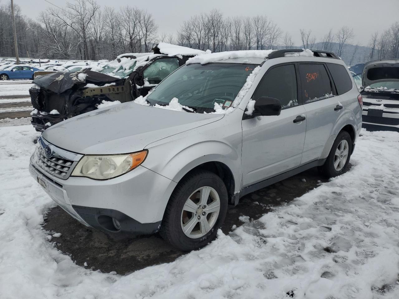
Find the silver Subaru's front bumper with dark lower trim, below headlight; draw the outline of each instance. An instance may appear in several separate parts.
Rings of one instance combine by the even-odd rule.
[[[66,180],[32,163],[29,171],[45,192],[73,218],[93,228],[134,235],[158,231],[176,183],[145,167],[107,181],[85,177]],[[115,218],[120,229],[113,224]]]

